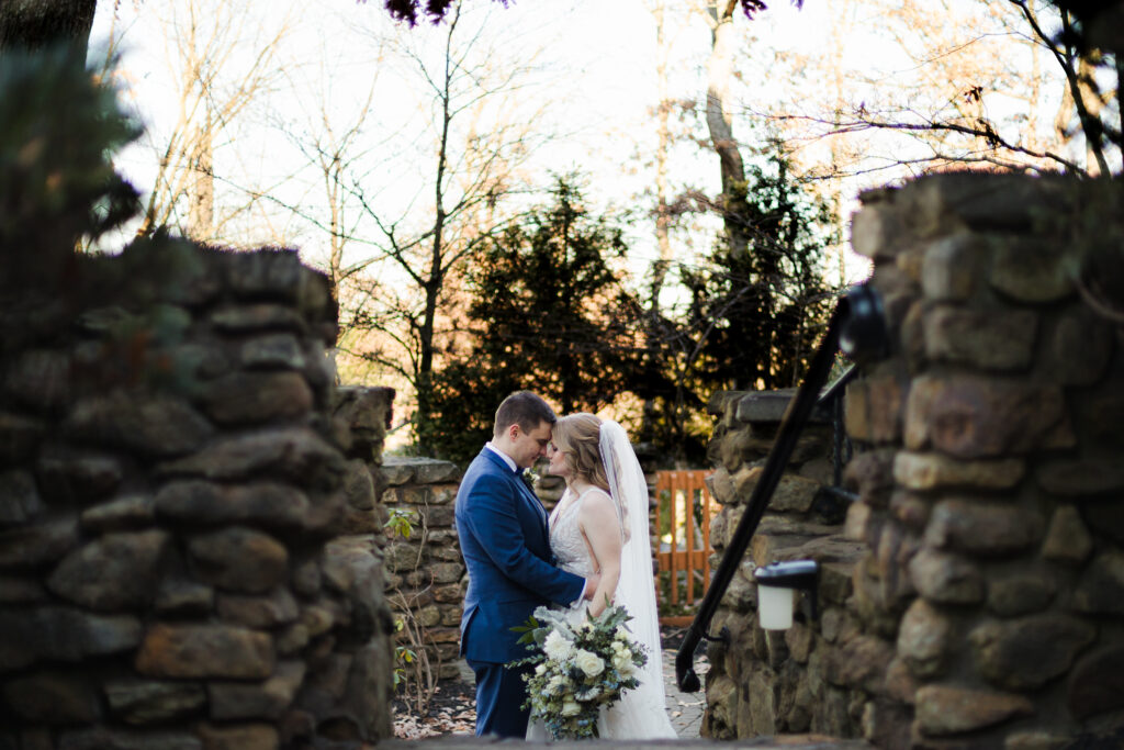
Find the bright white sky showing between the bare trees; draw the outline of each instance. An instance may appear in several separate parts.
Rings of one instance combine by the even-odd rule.
[[[479,153],[511,161],[509,184],[516,191],[504,204],[511,211],[544,202],[555,175],[577,173],[591,209],[624,226],[634,289],[644,288],[659,256],[652,218],[661,54],[651,10],[656,1],[513,0],[504,8],[465,0],[453,45],[463,62],[462,82],[477,87],[462,87],[454,97],[454,105],[465,108],[454,141],[475,138],[483,144]],[[700,12],[689,10],[694,0],[667,4],[667,97],[694,103],[681,110],[682,118],[680,110],[672,117],[680,138],[670,152],[669,192],[716,197],[718,161],[700,116],[710,29]],[[925,147],[898,133],[825,137],[823,126],[777,116],[822,115],[833,96],[871,110],[888,105],[918,118],[945,116],[962,108],[967,88],[979,84],[981,114],[1004,132],[1050,136],[1059,73],[1045,63],[1035,67],[1031,47],[1008,24],[1010,7],[1005,0],[807,0],[797,9],[774,0],[752,21],[737,17],[731,112],[743,157],[760,159],[754,147],[782,135],[797,172],[824,170],[836,148],[868,170],[807,183],[840,215],[835,228],[843,241],[828,249],[824,264],[830,283],[855,283],[870,272],[869,261],[846,242],[860,192],[907,179],[912,170],[898,161],[924,155]],[[191,8],[198,10],[194,17]],[[215,242],[296,247],[306,263],[325,268],[329,186],[315,161],[317,148],[341,141],[348,143],[345,182],[362,191],[381,222],[380,227],[354,199],[347,201],[344,228],[355,240],[346,245],[345,265],[377,257],[383,231],[408,237],[432,224],[433,82],[442,70],[447,22],[395,24],[379,0],[99,0],[91,61],[105,58],[110,43],[119,54],[114,74],[123,101],[146,134],[116,165],[142,192],[152,189],[182,119],[180,81],[192,29],[197,46],[210,40],[211,56],[221,60],[214,71],[200,69],[214,73],[212,108],[221,108],[255,64],[260,84],[236,115],[223,119],[212,143],[216,215],[230,217]],[[942,66],[955,57],[950,49],[964,48],[986,70]],[[952,78],[941,78],[946,74]],[[489,96],[479,97],[480,88]],[[1008,90],[1031,99],[1013,99]],[[187,119],[200,120],[198,112]],[[497,141],[509,132],[518,137]],[[450,187],[452,201],[456,180]],[[106,250],[124,245],[133,232],[111,238]],[[720,233],[713,213],[691,219],[672,234],[672,260],[697,266]],[[392,265],[374,263],[365,273],[383,290],[409,288]],[[661,302],[667,309],[683,298],[668,284]],[[342,367],[368,365],[354,360]],[[381,371],[344,376],[408,392]]]

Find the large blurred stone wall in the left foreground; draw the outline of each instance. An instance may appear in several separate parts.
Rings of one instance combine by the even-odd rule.
[[[333,417],[327,279],[155,241],[2,296],[0,747],[388,737],[381,524],[345,487],[381,428]]]

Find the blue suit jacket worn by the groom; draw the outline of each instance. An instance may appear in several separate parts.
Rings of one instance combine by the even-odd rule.
[[[528,656],[511,627],[535,607],[575,602],[584,579],[553,566],[546,510],[488,448],[469,464],[456,493],[456,532],[469,571],[461,653],[491,662]]]

